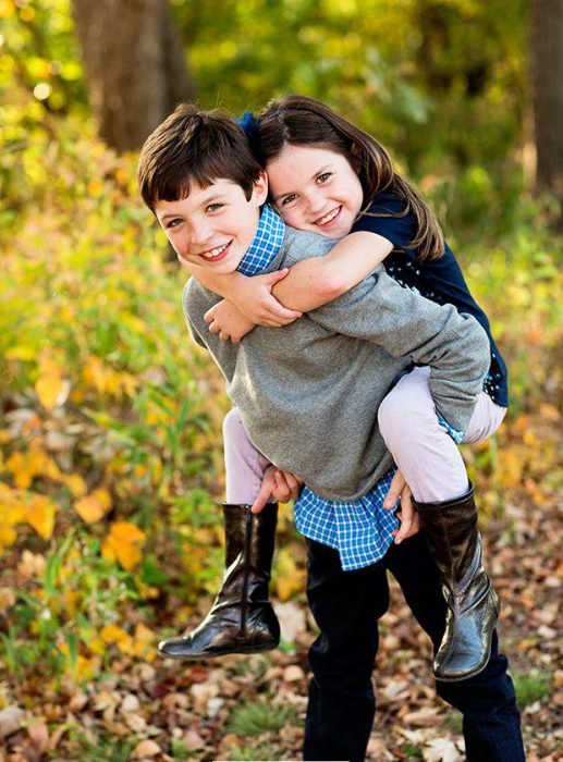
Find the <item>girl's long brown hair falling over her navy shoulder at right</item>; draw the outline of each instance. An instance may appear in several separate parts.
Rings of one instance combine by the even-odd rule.
[[[327,148],[350,161],[364,189],[365,209],[372,217],[414,214],[416,236],[408,249],[418,249],[417,259],[437,259],[444,253],[443,234],[438,221],[418,192],[397,172],[381,144],[371,135],[315,98],[289,95],[271,100],[258,114],[258,128],[252,140],[258,160],[266,167],[285,145]],[[396,194],[405,202],[399,214],[366,211],[383,192]]]

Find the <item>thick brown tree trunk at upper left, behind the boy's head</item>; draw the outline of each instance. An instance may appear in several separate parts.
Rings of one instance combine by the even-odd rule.
[[[184,50],[166,0],[73,0],[100,137],[139,148],[174,106],[193,100]]]

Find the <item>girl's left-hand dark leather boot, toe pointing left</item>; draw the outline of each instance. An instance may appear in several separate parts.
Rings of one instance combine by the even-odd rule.
[[[161,656],[196,661],[227,653],[260,653],[280,642],[280,624],[268,598],[278,503],[261,513],[223,505],[225,570],[211,611],[192,632],[162,640]]]

